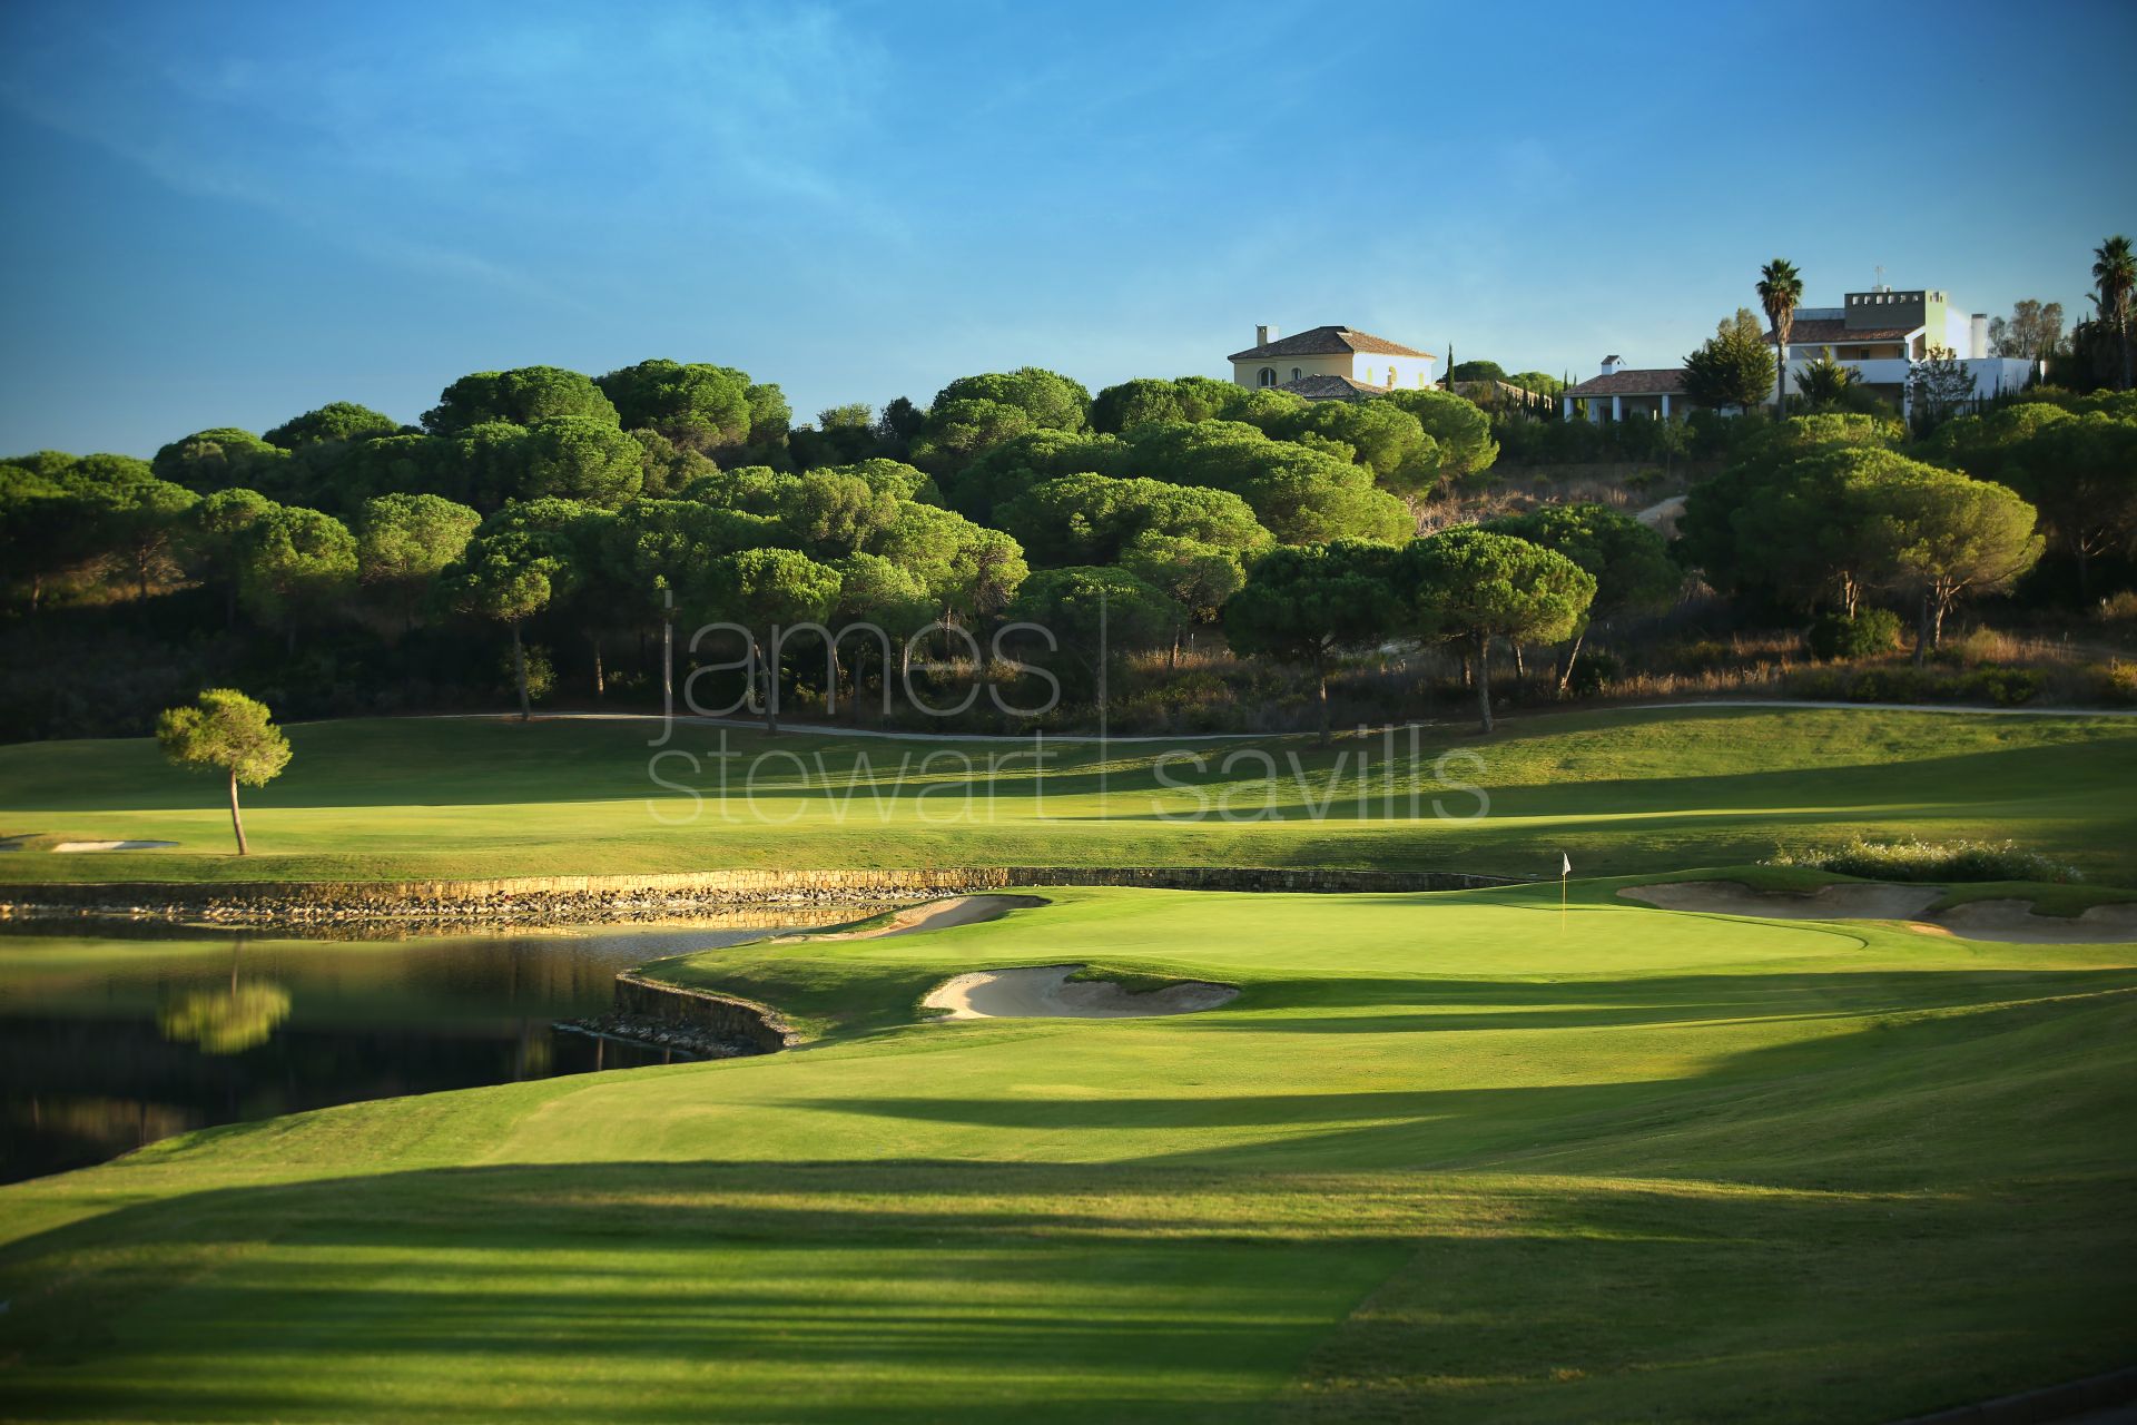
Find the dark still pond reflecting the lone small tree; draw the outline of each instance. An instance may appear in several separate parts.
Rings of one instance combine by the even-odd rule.
[[[0,1181],[209,1124],[688,1060],[553,1023],[609,1008],[618,970],[855,914],[363,940],[0,921]]]

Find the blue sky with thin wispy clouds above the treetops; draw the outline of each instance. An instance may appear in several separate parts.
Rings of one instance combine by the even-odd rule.
[[[0,451],[643,357],[799,419],[1254,323],[1509,370],[1812,306],[2081,314],[2137,6],[0,9]]]

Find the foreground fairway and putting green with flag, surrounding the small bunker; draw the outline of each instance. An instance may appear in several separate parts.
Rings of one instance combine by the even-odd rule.
[[[1613,902],[1047,891],[671,978],[759,1060],[0,1190],[77,1419],[1889,1421],[2137,1350],[2137,946]],[[949,974],[1237,985],[930,1023]]]

